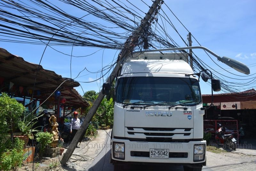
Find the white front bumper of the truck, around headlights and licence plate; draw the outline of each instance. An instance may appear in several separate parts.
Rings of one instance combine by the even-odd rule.
[[[124,159],[118,159],[113,155],[113,143],[124,143]],[[179,165],[198,165],[203,166],[206,164],[205,147],[206,141],[190,141],[188,143],[177,142],[136,142],[126,139],[111,139],[111,159],[113,163],[122,164],[123,162],[136,163],[166,163],[166,164],[179,164]],[[194,145],[204,145],[204,157],[200,161],[194,160]],[[150,158],[150,149],[169,149],[168,159]],[[120,161],[120,162],[118,162]]]

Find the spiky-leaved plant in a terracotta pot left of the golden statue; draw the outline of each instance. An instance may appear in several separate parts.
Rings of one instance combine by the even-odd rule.
[[[18,122],[18,128],[20,129],[21,135],[16,137],[25,141],[24,147],[26,147],[26,145],[28,144],[28,138],[34,139],[33,132],[41,131],[37,130],[41,126],[38,126],[36,128],[34,127],[38,122],[37,118],[38,117],[36,117],[36,113],[24,113],[23,119],[20,119],[20,121]]]

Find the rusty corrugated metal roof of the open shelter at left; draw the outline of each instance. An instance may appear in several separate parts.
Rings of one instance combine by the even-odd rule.
[[[66,105],[88,105],[74,89],[80,86],[79,82],[63,78],[53,71],[44,69],[41,65],[27,62],[3,48],[0,48],[0,77],[4,78],[5,83],[14,83],[16,91],[9,90],[6,85],[1,85],[0,89],[13,93],[17,97],[31,97],[31,91],[34,90],[33,97],[44,100],[61,85],[58,90],[61,91],[61,97],[66,98]],[[19,91],[19,87],[23,88],[23,92]]]

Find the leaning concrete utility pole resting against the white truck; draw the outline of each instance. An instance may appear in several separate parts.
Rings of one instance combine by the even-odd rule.
[[[141,20],[140,26],[133,32],[132,35],[129,36],[129,38],[124,43],[123,50],[120,51],[120,53],[118,54],[116,66],[114,67],[112,73],[110,74],[110,76],[107,79],[107,82],[109,82],[110,85],[114,80],[114,79],[110,79],[111,75],[117,75],[119,69],[121,68],[120,62],[122,62],[134,50],[134,47],[136,46],[136,43],[139,40],[139,37],[143,33],[143,28],[150,26],[151,22],[155,19],[154,17],[160,10],[161,4],[163,4],[163,0],[155,0],[154,1],[152,6],[150,7],[148,13],[144,17],[144,19]],[[76,148],[76,145],[78,144],[81,136],[84,136],[84,133],[85,133],[90,121],[92,120],[93,115],[96,113],[96,110],[99,107],[103,98],[104,98],[104,95],[102,94],[102,89],[101,89],[98,98],[94,101],[91,109],[89,110],[89,112],[87,113],[87,115],[84,119],[83,124],[81,125],[79,130],[76,132],[75,137],[73,138],[71,144],[69,145],[67,151],[65,152],[63,158],[61,159],[61,163],[63,165],[66,164],[68,159],[73,154],[73,152]]]

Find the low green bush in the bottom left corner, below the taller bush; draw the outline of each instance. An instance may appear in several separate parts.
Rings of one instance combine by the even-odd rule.
[[[9,171],[21,166],[23,161],[23,146],[24,141],[15,138],[14,148],[11,150],[7,149],[0,158],[0,170]]]

